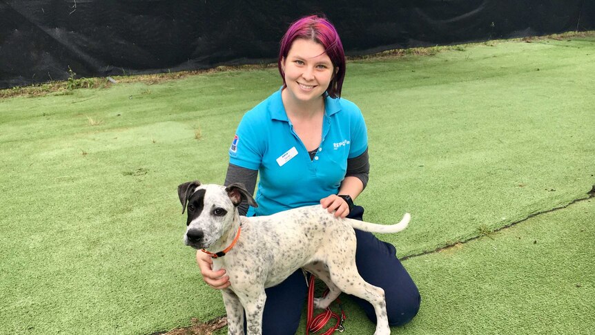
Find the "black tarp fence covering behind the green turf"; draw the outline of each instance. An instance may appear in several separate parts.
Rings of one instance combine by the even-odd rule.
[[[0,88],[271,62],[313,13],[347,55],[595,30],[595,0],[0,1]]]

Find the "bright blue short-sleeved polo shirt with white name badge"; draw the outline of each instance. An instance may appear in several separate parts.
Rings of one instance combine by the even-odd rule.
[[[319,204],[337,194],[347,159],[368,147],[362,112],[346,99],[324,99],[322,142],[314,160],[293,131],[281,90],[242,117],[231,147],[230,163],[258,170],[257,208],[246,216],[266,216],[286,209]]]

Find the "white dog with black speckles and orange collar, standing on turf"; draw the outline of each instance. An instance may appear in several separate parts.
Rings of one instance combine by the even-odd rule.
[[[188,210],[184,243],[210,253],[213,270],[224,268],[230,278],[231,285],[222,290],[228,334],[244,335],[244,309],[247,334],[262,334],[264,289],[300,268],[330,289],[326,297],[315,300],[315,307],[326,308],[344,291],[373,305],[375,335],[391,333],[384,290],[366,283],[355,266],[353,228],[396,233],[407,227],[409,213],[393,225],[335,218],[321,205],[246,218],[237,213],[237,205],[242,200],[257,204],[242,184],[186,182],[178,186],[178,195],[182,213]]]

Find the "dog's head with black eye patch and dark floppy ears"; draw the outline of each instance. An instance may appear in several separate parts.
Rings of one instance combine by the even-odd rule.
[[[258,207],[243,184],[227,187],[215,184],[202,185],[198,181],[177,186],[182,214],[188,213],[184,244],[195,249],[206,249],[231,229],[237,206],[247,200]]]

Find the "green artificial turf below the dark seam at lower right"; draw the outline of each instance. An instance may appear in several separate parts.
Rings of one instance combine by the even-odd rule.
[[[404,260],[422,307],[392,334],[593,334],[594,215],[595,199],[583,200]],[[359,307],[342,301],[344,334],[373,334],[375,325]]]

